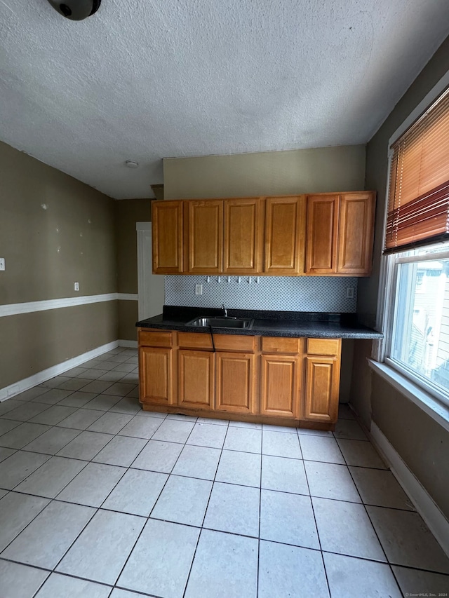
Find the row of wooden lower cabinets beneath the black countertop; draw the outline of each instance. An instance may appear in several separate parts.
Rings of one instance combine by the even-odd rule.
[[[216,351],[208,334],[140,331],[144,409],[334,428],[341,339],[214,339]]]

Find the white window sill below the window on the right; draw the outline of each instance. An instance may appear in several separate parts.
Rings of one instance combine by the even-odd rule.
[[[422,411],[434,419],[449,432],[449,407],[443,405],[432,395],[410,381],[406,376],[399,374],[396,369],[384,363],[368,359],[368,365],[376,374],[379,374],[391,386],[405,395],[411,402],[420,407]]]

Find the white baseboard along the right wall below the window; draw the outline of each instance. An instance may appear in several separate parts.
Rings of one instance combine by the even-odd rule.
[[[421,482],[410,471],[406,463],[402,460],[396,449],[390,444],[387,437],[374,421],[371,422],[370,430],[371,440],[376,449],[384,457],[391,468],[396,480],[403,487],[404,491],[410,496],[417,512],[420,513],[424,522],[426,522],[432,534],[449,557],[449,521],[445,518],[438,505],[431,498]]]

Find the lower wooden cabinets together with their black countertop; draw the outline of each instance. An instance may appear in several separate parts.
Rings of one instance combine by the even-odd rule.
[[[229,310],[250,327],[192,324],[222,315],[164,306],[137,322],[143,409],[333,430],[341,339],[382,338],[340,313]]]

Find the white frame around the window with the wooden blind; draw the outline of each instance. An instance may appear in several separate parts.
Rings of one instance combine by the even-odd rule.
[[[398,140],[401,135],[412,125],[417,118],[433,104],[449,85],[449,72],[436,83],[429,93],[423,98],[420,104],[412,111],[412,113],[403,121],[403,123],[394,131],[393,135],[388,141],[388,161],[387,161],[387,181],[385,186],[385,205],[384,218],[382,222],[382,251],[385,247],[387,217],[388,217],[388,197],[390,184],[390,170],[391,160],[393,158],[393,150],[391,146]],[[449,245],[448,245],[449,250]],[[403,252],[402,252],[403,253]],[[424,379],[416,372],[403,367],[400,363],[390,357],[391,343],[393,340],[393,323],[394,310],[396,306],[396,285],[398,280],[397,264],[398,254],[382,254],[380,257],[380,276],[379,276],[379,292],[377,294],[377,315],[376,315],[376,329],[384,334],[384,340],[380,341],[373,347],[372,358],[377,362],[384,362],[385,365],[391,367],[395,372],[403,376],[406,380],[415,384],[419,389],[424,390],[426,394],[436,400],[438,405],[449,407],[449,397],[431,383],[431,381]],[[434,258],[433,258],[434,259]],[[419,401],[418,397],[417,400]]]

